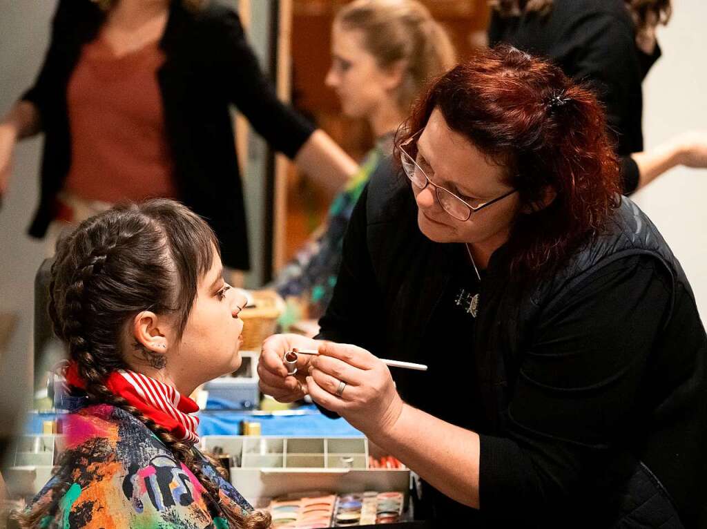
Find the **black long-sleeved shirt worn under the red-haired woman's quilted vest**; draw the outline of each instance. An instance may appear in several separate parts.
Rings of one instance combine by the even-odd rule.
[[[691,364],[705,339],[691,294],[682,286],[675,291],[665,267],[650,255],[619,257],[573,285],[518,344],[520,372],[508,380],[508,420],[499,431],[481,407],[475,361],[498,351],[474,350],[474,334],[488,329],[477,328],[465,312],[479,284],[474,269],[462,245],[426,240],[414,201],[396,197],[405,205],[385,203],[390,212],[371,218],[371,208],[378,207],[370,205],[368,189],[361,195],[320,326],[325,339],[427,364],[427,372],[391,370],[404,400],[481,436],[480,511],[425,487],[418,512],[469,527],[498,527],[509,519],[525,520],[527,527],[554,526],[541,521],[558,519],[573,527],[608,526],[597,519],[612,512],[603,495],[617,485],[602,476],[624,463],[626,447],[640,453],[654,435],[651,407],[675,380],[703,376],[703,367]],[[684,351],[661,345],[671,311],[684,322]],[[685,397],[685,409],[703,407],[692,398]],[[674,429],[672,446],[662,459],[651,457],[660,459],[659,477],[678,505],[691,502],[695,509],[694,479],[684,470],[665,471],[675,453],[699,459],[691,441],[696,431],[686,431],[689,421],[675,413],[667,426]]]

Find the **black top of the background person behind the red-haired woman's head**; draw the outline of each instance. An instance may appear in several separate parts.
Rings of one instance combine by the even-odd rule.
[[[641,82],[660,57],[636,46],[636,29],[624,0],[554,0],[547,16],[526,13],[503,18],[494,11],[489,45],[506,43],[547,57],[575,81],[590,84],[607,112],[621,156],[624,192],[638,185],[638,166],[629,156],[643,151]]]

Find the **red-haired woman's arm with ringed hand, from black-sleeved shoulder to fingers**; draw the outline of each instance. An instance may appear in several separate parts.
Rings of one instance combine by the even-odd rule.
[[[352,346],[320,347],[309,393],[452,499],[489,519],[541,520],[631,424],[633,395],[670,306],[660,267],[653,257],[629,257],[566,293],[523,356],[503,436],[402,404],[387,368]],[[341,397],[338,380],[348,383]]]

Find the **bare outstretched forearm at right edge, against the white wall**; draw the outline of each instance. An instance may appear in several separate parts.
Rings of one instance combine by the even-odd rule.
[[[678,165],[707,168],[707,132],[686,132],[631,158],[638,168],[637,190]]]

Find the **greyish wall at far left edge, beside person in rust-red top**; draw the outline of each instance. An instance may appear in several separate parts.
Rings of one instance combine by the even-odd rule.
[[[0,0],[0,115],[35,78],[55,6],[55,0]],[[26,235],[37,202],[40,150],[40,139],[25,140],[16,149],[10,191],[0,211],[0,310],[19,316],[0,373],[8,375],[1,379],[4,385],[20,388],[30,387],[34,277],[45,252],[42,242]],[[3,390],[15,399],[31,395],[18,388]],[[13,402],[3,404],[12,406]]]

